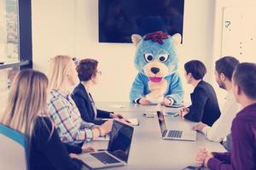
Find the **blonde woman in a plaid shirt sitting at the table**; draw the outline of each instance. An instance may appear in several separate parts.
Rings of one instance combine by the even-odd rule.
[[[51,59],[48,76],[49,115],[55,122],[62,142],[81,145],[111,131],[113,121],[96,126],[82,120],[69,93],[69,89],[79,83],[76,66],[69,56],[57,55]]]

